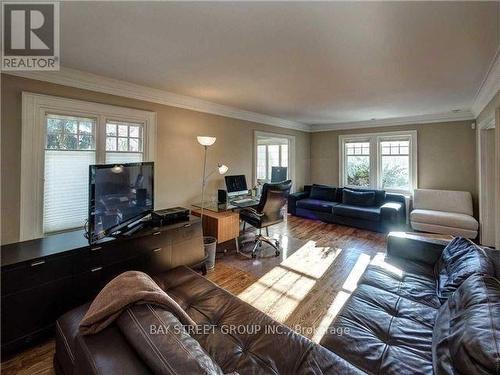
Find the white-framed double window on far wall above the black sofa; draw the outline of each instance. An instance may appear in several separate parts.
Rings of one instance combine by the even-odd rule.
[[[343,186],[411,193],[417,187],[417,132],[340,136]]]

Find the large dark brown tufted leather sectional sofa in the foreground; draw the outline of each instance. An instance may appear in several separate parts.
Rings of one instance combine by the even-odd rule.
[[[499,256],[470,253],[460,241],[453,251],[444,247],[440,241],[389,235],[386,256],[367,268],[320,345],[186,267],[156,281],[197,324],[214,327],[192,337],[224,373],[458,374],[458,368],[498,373]],[[118,324],[79,335],[87,308],[57,321],[58,374],[153,373]],[[231,325],[268,331],[223,332]]]

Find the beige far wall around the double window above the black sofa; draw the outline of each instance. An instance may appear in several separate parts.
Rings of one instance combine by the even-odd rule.
[[[339,135],[417,130],[418,187],[470,191],[477,202],[476,135],[471,123],[456,121],[313,133],[311,182],[338,185]]]

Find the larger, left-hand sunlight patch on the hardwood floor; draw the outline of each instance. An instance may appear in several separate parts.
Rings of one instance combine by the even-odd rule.
[[[314,241],[309,241],[238,297],[284,322],[341,251],[330,247],[316,247]]]

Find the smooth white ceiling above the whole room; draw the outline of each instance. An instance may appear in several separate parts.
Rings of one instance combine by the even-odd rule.
[[[61,2],[61,63],[305,124],[471,108],[500,2]]]

